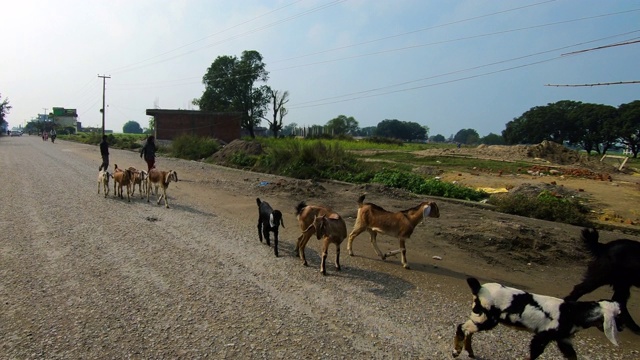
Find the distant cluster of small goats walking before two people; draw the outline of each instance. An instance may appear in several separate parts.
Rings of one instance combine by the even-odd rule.
[[[138,192],[140,198],[143,198],[144,194],[147,194],[147,202],[151,195],[151,190],[155,189],[156,196],[158,195],[158,188],[162,190],[162,194],[158,197],[157,203],[164,199],[164,206],[169,207],[167,200],[167,188],[169,183],[178,181],[178,174],[173,171],[161,171],[156,168],[151,168],[149,171],[137,170],[134,167],[127,169],[121,169],[117,164],[113,165],[113,173],[107,170],[100,170],[98,172],[98,194],[100,194],[100,188],[104,189],[104,197],[109,195],[109,180],[113,178],[113,196],[124,199],[122,194],[123,189],[127,192],[127,201],[131,202],[131,196],[135,195],[136,185],[138,186]]]

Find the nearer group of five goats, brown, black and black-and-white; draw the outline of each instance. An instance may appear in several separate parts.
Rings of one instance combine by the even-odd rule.
[[[259,198],[256,201],[260,242],[264,238],[270,246],[269,233],[273,232],[274,253],[278,256],[278,228],[281,225],[284,227],[282,212],[274,210]],[[335,266],[336,270],[340,270],[340,244],[347,238],[347,227],[342,217],[330,208],[307,205],[305,202],[296,206],[296,217],[302,233],[296,241],[295,252],[303,265],[307,265],[305,246],[315,233],[322,240],[320,272],[326,274],[329,244],[336,247]],[[440,217],[436,203],[423,202],[410,209],[389,212],[375,204],[365,203],[362,195],[358,199],[354,228],[348,236],[347,251],[353,256],[353,240],[366,230],[381,259],[400,253],[403,267],[409,269],[405,241],[427,217]],[[376,244],[378,233],[397,237],[400,248],[383,254]],[[594,260],[589,264],[583,282],[576,285],[564,299],[532,294],[497,283],[481,285],[477,279],[468,278],[467,283],[473,294],[473,310],[470,318],[456,327],[453,356],[457,357],[464,349],[469,357],[475,357],[471,347],[473,334],[490,330],[500,323],[534,333],[529,345],[530,359],[538,358],[552,341],[556,342],[565,358],[577,359],[572,337],[590,327],[603,331],[614,345],[617,345],[617,331],[624,326],[640,334],[640,327],[627,309],[631,287],[640,287],[640,242],[619,239],[603,244],[598,237],[595,229],[582,230],[581,239]],[[613,287],[612,300],[578,301],[581,296],[605,285]]]

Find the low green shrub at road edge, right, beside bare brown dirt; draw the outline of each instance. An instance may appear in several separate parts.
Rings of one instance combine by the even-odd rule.
[[[493,196],[489,203],[507,214],[590,226],[587,217],[589,209],[586,206],[576,199],[556,197],[549,191],[542,191],[535,197],[523,194]]]

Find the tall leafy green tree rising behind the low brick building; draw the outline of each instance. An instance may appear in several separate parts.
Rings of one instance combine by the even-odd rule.
[[[202,78],[205,90],[193,103],[204,111],[240,111],[242,127],[255,138],[254,127],[260,124],[269,103],[269,88],[256,86],[266,82],[269,72],[262,55],[255,50],[245,50],[236,56],[219,56]]]

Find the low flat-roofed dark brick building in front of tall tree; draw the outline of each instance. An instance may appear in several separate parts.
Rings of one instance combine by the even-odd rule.
[[[230,143],[240,138],[242,113],[147,109],[155,119],[155,137],[173,140],[182,134],[211,137]]]

